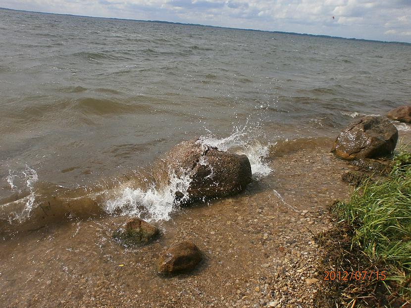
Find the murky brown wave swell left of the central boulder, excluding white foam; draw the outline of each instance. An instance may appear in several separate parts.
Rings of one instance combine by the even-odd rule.
[[[0,199],[0,230],[27,231],[48,224],[61,224],[73,218],[101,217],[106,214],[103,205],[121,195],[125,188],[147,190],[152,185],[163,185],[167,177],[167,166],[163,160],[157,159],[145,168],[104,178],[89,186],[70,189],[51,183],[37,183],[33,192],[14,193]],[[35,206],[29,217],[20,219],[29,198],[33,198]]]

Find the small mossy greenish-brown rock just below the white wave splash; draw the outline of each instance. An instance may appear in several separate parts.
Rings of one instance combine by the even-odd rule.
[[[153,241],[158,234],[159,230],[156,226],[133,217],[113,232],[113,238],[124,246],[143,245]]]

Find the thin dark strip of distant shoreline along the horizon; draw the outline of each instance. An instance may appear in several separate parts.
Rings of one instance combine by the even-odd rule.
[[[88,16],[88,15],[49,13],[49,12],[39,12],[39,11],[27,11],[27,10],[7,8],[7,7],[0,7],[0,9],[10,10],[10,11],[17,11],[17,12],[28,12],[28,13],[40,13],[40,14],[51,14],[51,15],[62,15],[62,16],[77,16],[77,17],[89,17],[89,18],[103,18],[103,19],[127,20],[127,21],[155,22],[155,23],[184,25],[184,26],[198,26],[198,27],[220,28],[220,29],[231,29],[231,30],[269,32],[269,33],[277,33],[277,34],[309,36],[309,37],[318,37],[318,38],[326,38],[326,39],[339,39],[339,40],[371,42],[371,43],[385,43],[385,44],[401,44],[401,45],[411,46],[411,43],[407,43],[407,42],[379,41],[379,40],[368,40],[368,39],[357,39],[357,38],[344,38],[344,37],[340,37],[340,36],[331,36],[331,35],[323,35],[323,34],[308,34],[308,33],[286,32],[286,31],[269,31],[269,30],[258,30],[258,29],[232,28],[232,27],[211,26],[211,25],[192,24],[192,23],[173,22],[173,21],[163,21],[163,20],[141,20],[141,19],[115,18],[115,17],[99,17],[99,16]]]

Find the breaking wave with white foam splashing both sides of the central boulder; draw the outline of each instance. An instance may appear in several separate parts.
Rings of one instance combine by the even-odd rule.
[[[225,138],[216,138],[211,134],[202,136],[200,142],[216,146],[221,151],[246,154],[251,163],[254,180],[259,180],[272,171],[266,159],[270,145],[249,140],[245,127],[233,130],[233,133]],[[206,164],[207,161],[201,163]],[[16,174],[10,171],[7,178],[12,190],[17,189]],[[14,225],[27,222],[26,228],[38,227],[67,217],[100,214],[138,216],[148,221],[168,220],[185,201],[184,197],[176,200],[176,192],[187,196],[186,192],[191,183],[190,172],[177,176],[161,159],[131,174],[103,179],[94,186],[78,189],[37,183],[38,176],[32,168],[27,168],[21,174],[24,175],[28,194],[16,201],[0,205],[0,220],[6,218],[8,223]]]

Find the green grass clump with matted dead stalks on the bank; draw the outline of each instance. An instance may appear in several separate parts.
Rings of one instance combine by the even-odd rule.
[[[392,166],[392,171],[377,182],[363,181],[349,202],[333,204],[339,225],[319,236],[326,250],[323,268],[386,271],[387,278],[326,286],[336,299],[329,307],[411,307],[407,306],[411,300],[409,147],[402,147]]]

